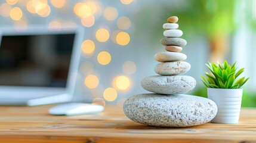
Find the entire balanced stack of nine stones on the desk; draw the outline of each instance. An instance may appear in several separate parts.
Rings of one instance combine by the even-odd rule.
[[[196,86],[191,76],[180,76],[190,70],[185,62],[187,56],[182,47],[187,41],[180,38],[183,32],[178,29],[178,17],[168,18],[163,25],[165,38],[161,39],[165,52],[155,54],[161,63],[155,66],[159,76],[145,77],[141,86],[155,94],[138,94],[129,97],[124,103],[124,113],[134,122],[150,126],[186,127],[211,121],[217,114],[217,105],[202,97],[185,95]]]

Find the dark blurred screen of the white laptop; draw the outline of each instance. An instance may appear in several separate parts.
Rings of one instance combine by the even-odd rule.
[[[2,36],[0,85],[66,87],[75,34]]]

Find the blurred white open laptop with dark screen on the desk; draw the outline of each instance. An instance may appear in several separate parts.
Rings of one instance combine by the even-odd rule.
[[[0,29],[0,105],[42,105],[72,100],[81,29]]]

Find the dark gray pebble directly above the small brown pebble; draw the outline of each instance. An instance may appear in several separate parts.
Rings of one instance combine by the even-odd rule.
[[[169,45],[175,45],[175,46],[186,46],[187,41],[182,38],[163,38],[160,41],[162,45],[169,46]]]

